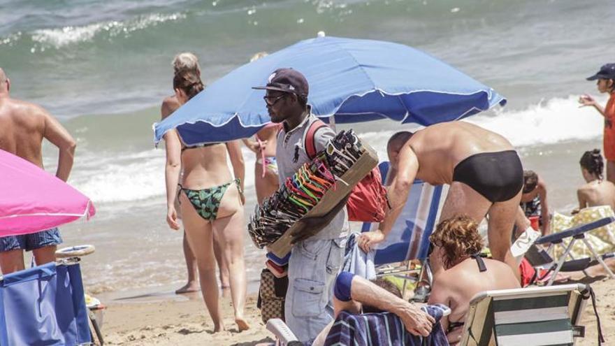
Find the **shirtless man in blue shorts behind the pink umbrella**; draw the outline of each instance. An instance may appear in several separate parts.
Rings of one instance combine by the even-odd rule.
[[[66,181],[73,168],[77,144],[41,106],[11,99],[10,80],[0,69],[0,149],[43,168],[43,138],[59,150],[57,178]],[[32,251],[37,265],[55,261],[55,250],[62,242],[57,228],[23,236],[0,238],[0,270],[3,274],[22,271],[24,250]]]

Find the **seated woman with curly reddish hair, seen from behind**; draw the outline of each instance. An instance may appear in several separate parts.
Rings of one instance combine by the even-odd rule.
[[[475,294],[520,287],[507,264],[479,256],[483,242],[477,226],[470,217],[455,216],[440,222],[430,237],[435,245],[432,248],[436,249],[430,254],[430,261],[442,261],[444,271],[435,275],[428,303],[451,308],[451,315],[440,321],[451,345],[461,339],[465,313]]]

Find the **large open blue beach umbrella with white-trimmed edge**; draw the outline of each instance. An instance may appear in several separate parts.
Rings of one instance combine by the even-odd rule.
[[[247,138],[270,122],[263,90],[281,67],[303,73],[308,103],[337,124],[389,118],[424,126],[468,117],[506,100],[495,90],[420,50],[385,41],[317,37],[240,66],[154,124],[187,145]],[[328,119],[325,119],[328,120]]]

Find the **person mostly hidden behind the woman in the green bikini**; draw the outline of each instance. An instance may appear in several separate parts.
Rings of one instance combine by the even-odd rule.
[[[190,52],[183,52],[178,55],[175,55],[173,59],[173,71],[174,73],[178,73],[178,71],[196,71],[196,74],[201,75],[201,66],[198,66],[198,58],[196,55]],[[162,101],[162,106],[160,108],[161,120],[171,115],[171,113],[175,112],[180,108],[180,102],[178,98],[173,96],[167,96]],[[180,210],[177,208],[177,199],[175,199],[176,210]],[[175,290],[175,294],[184,294],[190,292],[197,292],[200,289],[198,288],[198,280],[196,275],[196,257],[194,257],[194,253],[190,249],[188,245],[188,240],[186,238],[186,233],[184,231],[184,259],[186,260],[186,267],[188,271],[188,282],[184,284],[184,286]],[[221,250],[219,250],[217,243],[214,243],[214,254],[216,257],[216,261],[219,266],[220,271],[220,284],[222,289],[229,288],[229,268],[224,264],[224,260],[222,259]]]

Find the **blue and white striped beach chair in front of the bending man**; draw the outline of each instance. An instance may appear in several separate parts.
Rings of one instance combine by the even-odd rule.
[[[379,164],[383,179],[389,173],[389,162]],[[384,182],[383,182],[384,183]],[[421,180],[414,180],[405,206],[384,242],[378,244],[374,264],[377,275],[407,275],[416,272],[408,269],[407,261],[419,259],[423,262],[421,270],[428,271],[427,252],[429,236],[435,229],[440,208],[447,195],[444,186],[433,186]],[[378,224],[366,222],[362,232],[375,229]],[[419,273],[419,277],[420,273]],[[415,280],[413,277],[404,276]],[[431,284],[431,282],[430,282]]]

